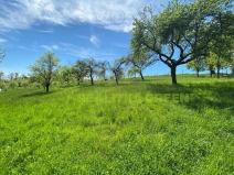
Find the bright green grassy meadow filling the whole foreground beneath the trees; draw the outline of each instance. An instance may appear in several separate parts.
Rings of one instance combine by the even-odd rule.
[[[178,81],[1,92],[0,174],[233,174],[234,79]]]

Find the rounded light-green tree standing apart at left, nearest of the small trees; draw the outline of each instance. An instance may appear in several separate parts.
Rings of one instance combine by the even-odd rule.
[[[57,67],[59,58],[51,52],[40,57],[34,65],[30,67],[32,76],[36,77],[43,84],[46,92],[49,92],[54,72]]]

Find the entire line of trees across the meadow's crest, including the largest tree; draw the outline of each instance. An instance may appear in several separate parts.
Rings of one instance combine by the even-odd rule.
[[[139,75],[161,62],[169,67],[172,84],[177,84],[177,68],[187,65],[196,76],[209,70],[220,78],[234,74],[234,14],[231,0],[194,0],[181,3],[172,0],[158,13],[146,7],[134,20],[131,53],[113,63],[94,58],[78,59],[72,66],[59,66],[53,53],[45,53],[30,66],[29,76],[12,74],[8,79],[1,73],[1,87],[24,85],[43,86],[49,91],[52,81],[59,85],[79,85],[84,80],[119,79]],[[1,52],[0,52],[1,53]],[[0,57],[3,57],[2,53]],[[157,67],[156,67],[157,68]]]

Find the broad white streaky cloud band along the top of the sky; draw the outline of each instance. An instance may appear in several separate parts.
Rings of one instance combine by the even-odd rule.
[[[86,22],[108,30],[129,32],[132,17],[146,2],[146,0],[4,1],[0,6],[0,31],[28,29],[38,21],[43,21],[61,25]]]

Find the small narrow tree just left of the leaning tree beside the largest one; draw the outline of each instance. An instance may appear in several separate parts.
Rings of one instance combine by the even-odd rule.
[[[115,63],[113,64],[113,66],[110,67],[111,72],[115,76],[116,85],[118,85],[119,79],[124,75],[124,69],[121,66],[125,63],[126,63],[126,58],[123,57],[123,58],[116,59]]]

